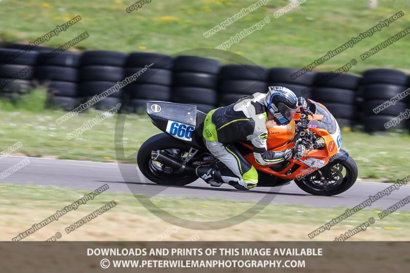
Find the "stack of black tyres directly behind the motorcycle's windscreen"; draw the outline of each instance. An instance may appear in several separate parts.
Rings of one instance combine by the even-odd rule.
[[[328,72],[318,73],[312,99],[322,103],[337,119],[340,127],[352,127],[357,121],[356,90],[360,77]]]

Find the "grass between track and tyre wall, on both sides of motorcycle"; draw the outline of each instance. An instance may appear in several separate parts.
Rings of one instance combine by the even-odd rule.
[[[68,133],[101,112],[89,110],[58,125],[55,120],[65,113],[51,110],[42,113],[0,110],[0,151],[20,141],[23,146],[15,153],[29,156],[103,162],[117,159],[114,141],[116,116],[105,119],[83,135],[69,140]],[[137,152],[139,146],[150,136],[160,133],[147,115],[134,114],[126,116],[123,132],[125,157]],[[410,136],[407,133],[367,135],[350,130],[342,131],[342,147],[356,160],[359,179],[364,180],[393,182],[407,176],[409,142]],[[135,157],[118,159],[135,163]]]

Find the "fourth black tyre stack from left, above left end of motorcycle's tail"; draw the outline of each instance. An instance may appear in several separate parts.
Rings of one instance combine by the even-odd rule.
[[[173,60],[171,56],[157,53],[135,52],[128,56],[126,77],[144,71],[124,89],[125,99],[132,112],[145,112],[146,103],[150,100],[171,100]]]

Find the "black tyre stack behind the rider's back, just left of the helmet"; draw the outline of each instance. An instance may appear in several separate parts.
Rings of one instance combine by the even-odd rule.
[[[221,68],[219,75],[220,106],[227,106],[256,92],[267,92],[268,70],[264,67],[227,65]]]

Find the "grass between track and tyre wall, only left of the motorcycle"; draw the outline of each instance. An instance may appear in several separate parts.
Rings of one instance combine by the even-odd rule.
[[[3,114],[0,121],[2,151],[20,141],[23,147],[15,153],[28,156],[55,156],[61,159],[103,162],[116,159],[114,143],[116,116],[96,124],[77,138],[68,139],[68,133],[95,116],[101,115],[102,112],[89,110],[60,125],[55,120],[66,112],[46,110],[40,114],[20,110],[0,111],[0,113]],[[128,115],[122,139],[126,156],[136,152],[149,136],[159,132],[147,117]]]

